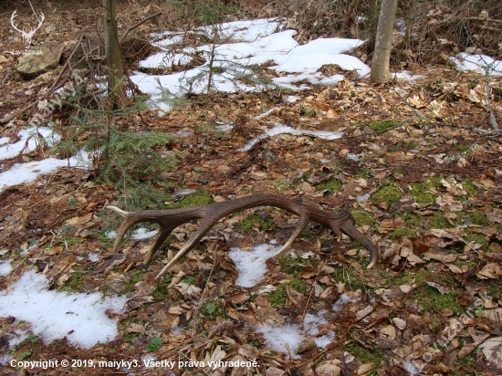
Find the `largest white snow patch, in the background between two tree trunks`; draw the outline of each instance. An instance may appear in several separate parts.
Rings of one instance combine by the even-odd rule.
[[[193,53],[199,53],[207,57],[213,53],[217,57],[214,60],[214,67],[221,67],[224,70],[221,74],[213,76],[214,89],[218,91],[234,92],[237,90],[253,91],[253,86],[248,86],[242,81],[238,81],[240,74],[250,74],[248,66],[264,64],[267,61],[274,61],[275,69],[280,72],[301,73],[299,76],[287,76],[274,78],[274,83],[290,87],[291,89],[309,89],[307,85],[292,85],[292,82],[308,79],[312,84],[332,85],[343,76],[335,75],[326,78],[317,70],[324,64],[336,64],[346,70],[356,70],[360,77],[366,76],[370,68],[357,57],[344,55],[344,52],[361,45],[360,39],[344,38],[320,38],[309,42],[307,45],[299,46],[293,38],[297,32],[295,30],[278,31],[279,24],[275,19],[256,19],[251,21],[236,21],[222,24],[218,27],[220,37],[227,37],[228,43],[214,47],[205,45],[201,47],[185,48],[174,57],[166,56],[164,52],[142,60],[140,67],[159,68],[170,65],[171,62],[177,64],[180,59]],[[211,27],[200,27],[193,31],[195,34],[211,34]],[[173,32],[165,33],[169,36],[165,42],[154,42],[156,46],[168,46],[173,40],[179,40],[181,36],[174,36]],[[167,61],[166,60],[169,60]],[[167,61],[167,63],[166,63]],[[183,96],[187,92],[184,88],[187,80],[200,78],[191,90],[195,93],[203,92],[207,88],[207,70],[209,62],[200,67],[189,69],[185,72],[174,72],[170,75],[152,75],[135,72],[131,80],[138,85],[142,92],[149,94],[153,101],[162,97],[162,90],[169,90],[175,96]],[[165,103],[158,103],[160,110],[168,111],[170,107]]]

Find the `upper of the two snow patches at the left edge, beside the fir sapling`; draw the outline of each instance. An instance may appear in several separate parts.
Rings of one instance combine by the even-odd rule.
[[[22,130],[17,133],[17,136],[19,137],[19,141],[0,147],[0,161],[14,158],[20,152],[26,154],[30,151],[34,151],[37,149],[37,145],[40,142],[45,142],[48,146],[51,146],[55,141],[61,138],[61,136],[47,127]],[[2,137],[4,140],[5,138],[8,139],[8,137]],[[1,142],[0,144],[5,143],[6,142]]]

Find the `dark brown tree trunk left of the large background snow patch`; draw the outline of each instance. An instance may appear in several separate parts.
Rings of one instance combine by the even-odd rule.
[[[108,92],[113,109],[120,109],[126,103],[124,94],[124,69],[120,54],[117,29],[117,1],[103,0],[105,22],[105,57],[108,73]]]

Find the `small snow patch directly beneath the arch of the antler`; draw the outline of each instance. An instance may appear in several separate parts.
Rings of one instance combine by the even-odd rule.
[[[254,287],[267,273],[267,258],[273,257],[280,246],[257,245],[252,251],[244,251],[240,248],[230,248],[228,256],[234,261],[239,277],[235,285],[241,287]]]

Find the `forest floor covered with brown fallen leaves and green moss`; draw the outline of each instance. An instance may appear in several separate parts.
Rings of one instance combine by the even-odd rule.
[[[83,19],[74,16],[71,22]],[[67,27],[53,38],[78,39],[78,26]],[[4,43],[5,50],[11,47]],[[56,77],[23,81],[8,73],[16,57],[0,58],[2,116],[32,103]],[[67,339],[45,343],[37,336],[10,347],[10,334],[29,325],[1,318],[0,355],[94,365],[136,360],[131,370],[112,363],[99,371],[78,363],[26,370],[40,374],[500,374],[502,136],[489,109],[502,125],[502,78],[489,78],[497,90],[488,103],[486,77],[452,67],[417,66],[413,75],[421,78],[385,85],[346,74],[331,87],[199,95],[163,117],[143,111],[120,121],[130,131],[147,126],[183,133],[170,145],[179,162],[169,174],[180,189],[195,191],[182,202],[275,193],[327,211],[348,209],[359,230],[380,247],[376,266],[366,268],[368,252],[357,242],[336,242],[312,224],[291,255],[267,261],[267,274],[256,287],[236,286],[230,248],[281,243],[294,230],[294,215],[261,208],[215,225],[158,283],[155,276],[196,224],[177,228],[148,267],[142,256],[149,239],[129,240],[113,254],[113,239],[105,234],[117,222],[104,208],[117,192],[95,183],[90,172],[62,168],[0,193],[0,257],[13,268],[0,277],[0,290],[8,291],[34,269],[47,274],[56,290],[125,295],[123,312],[110,313],[118,319],[119,336],[87,350]],[[285,102],[288,96],[299,99]],[[26,120],[28,115],[4,127],[2,135],[14,135]],[[235,122],[232,130],[217,128],[228,122]],[[278,134],[238,151],[274,122],[343,135],[327,141]],[[37,150],[2,163],[6,170],[48,154]],[[317,330],[307,329],[306,317],[317,317]],[[303,328],[300,346],[274,350],[260,327],[284,329],[283,341]],[[330,343],[317,346],[315,339],[329,333]],[[148,359],[175,363],[150,367],[143,362]],[[250,371],[213,370],[209,360],[256,365]]]

